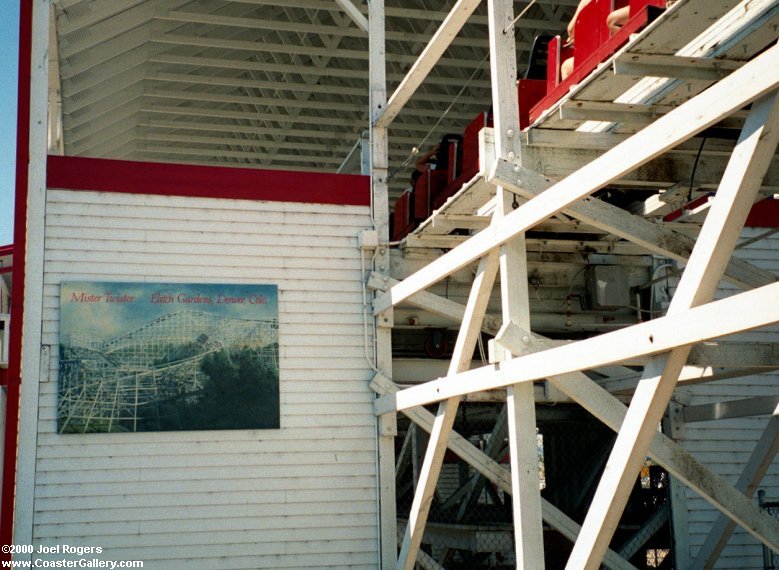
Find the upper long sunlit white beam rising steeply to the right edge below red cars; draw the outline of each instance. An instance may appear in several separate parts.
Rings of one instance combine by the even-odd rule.
[[[695,136],[779,85],[779,46],[774,46],[700,95],[680,105],[543,194],[409,276],[377,299],[382,312],[482,257],[538,222],[560,212],[637,166]]]

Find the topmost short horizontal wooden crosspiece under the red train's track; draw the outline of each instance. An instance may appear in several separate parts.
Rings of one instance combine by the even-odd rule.
[[[744,65],[742,61],[625,52],[614,59],[614,73],[644,77],[718,81]]]

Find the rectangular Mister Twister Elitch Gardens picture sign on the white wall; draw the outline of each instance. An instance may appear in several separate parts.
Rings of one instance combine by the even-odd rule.
[[[64,282],[59,433],[279,427],[275,285]]]

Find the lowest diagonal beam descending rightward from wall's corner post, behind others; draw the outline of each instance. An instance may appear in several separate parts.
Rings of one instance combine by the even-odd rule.
[[[379,374],[371,382],[371,389],[379,395],[390,395],[398,392],[398,387],[391,380]],[[432,431],[435,416],[425,408],[411,408],[404,410],[403,414],[428,433]],[[477,472],[481,473],[484,478],[505,493],[511,494],[511,474],[494,459],[488,457],[482,450],[456,431],[452,431],[450,434],[447,445],[450,450],[471,465]],[[576,540],[576,536],[581,528],[579,524],[550,502],[542,499],[541,505],[544,520],[571,542]],[[608,551],[603,559],[603,564],[615,570],[632,570],[635,568],[613,550]]]

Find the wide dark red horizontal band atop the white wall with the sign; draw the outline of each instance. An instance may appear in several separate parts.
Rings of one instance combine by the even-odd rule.
[[[48,188],[198,198],[370,205],[370,178],[354,174],[191,166],[50,156]]]

